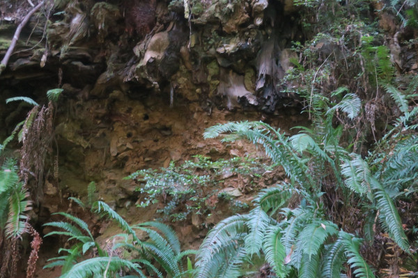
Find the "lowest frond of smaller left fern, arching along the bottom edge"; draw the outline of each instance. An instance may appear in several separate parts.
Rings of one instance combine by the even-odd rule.
[[[140,277],[146,278],[141,270],[139,270],[137,263],[131,263],[128,260],[118,257],[107,256],[87,259],[86,261],[77,263],[68,272],[61,275],[60,278],[86,278],[93,275],[102,275],[105,270],[108,270],[107,273],[111,273],[118,272],[124,268],[135,271]]]

